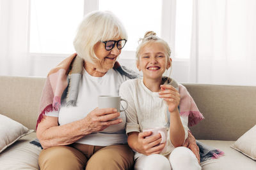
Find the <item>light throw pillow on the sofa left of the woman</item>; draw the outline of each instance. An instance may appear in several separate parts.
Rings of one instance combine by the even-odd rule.
[[[33,132],[24,125],[0,114],[0,153],[22,136]]]

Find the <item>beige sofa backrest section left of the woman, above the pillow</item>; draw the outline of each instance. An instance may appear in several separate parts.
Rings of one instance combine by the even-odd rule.
[[[0,114],[35,129],[45,78],[0,76]]]

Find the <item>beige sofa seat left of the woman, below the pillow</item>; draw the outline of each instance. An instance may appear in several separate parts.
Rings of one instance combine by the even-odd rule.
[[[33,132],[23,136],[0,154],[0,169],[39,169],[41,148],[29,143],[36,138]]]

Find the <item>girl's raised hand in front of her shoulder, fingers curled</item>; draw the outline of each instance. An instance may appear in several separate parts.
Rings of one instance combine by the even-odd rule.
[[[160,87],[159,97],[166,101],[168,110],[172,113],[180,104],[180,94],[172,85],[161,85]]]

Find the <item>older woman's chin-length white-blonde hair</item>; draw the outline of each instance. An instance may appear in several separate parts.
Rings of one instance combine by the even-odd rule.
[[[127,39],[122,22],[111,11],[92,11],[79,25],[73,44],[77,55],[93,63],[99,60],[93,46],[118,37]]]

